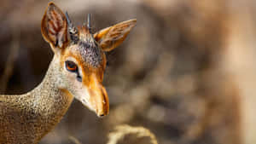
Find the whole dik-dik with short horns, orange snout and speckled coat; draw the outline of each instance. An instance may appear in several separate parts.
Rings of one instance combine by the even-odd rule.
[[[0,143],[38,143],[67,112],[73,97],[102,117],[108,114],[102,85],[105,52],[125,40],[137,20],[91,33],[90,19],[73,26],[67,13],[49,3],[41,32],[55,53],[44,80],[24,95],[0,95]]]

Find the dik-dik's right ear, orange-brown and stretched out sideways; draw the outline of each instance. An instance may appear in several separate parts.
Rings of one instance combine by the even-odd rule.
[[[102,29],[94,34],[95,40],[100,44],[103,51],[111,51],[125,40],[136,25],[137,20],[127,20],[117,25]]]

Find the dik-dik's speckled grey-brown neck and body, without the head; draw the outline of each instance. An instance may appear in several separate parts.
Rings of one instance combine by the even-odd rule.
[[[60,88],[59,68],[54,58],[37,88],[25,95],[0,95],[0,143],[36,143],[60,122],[73,96]]]

